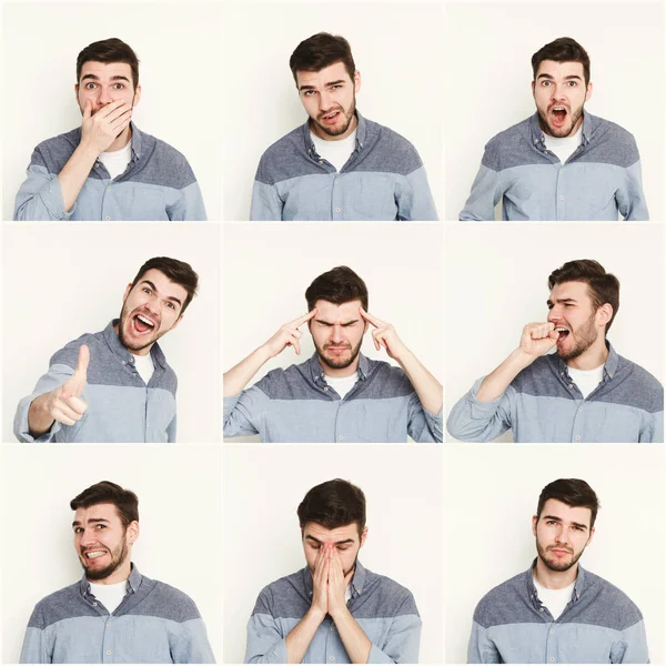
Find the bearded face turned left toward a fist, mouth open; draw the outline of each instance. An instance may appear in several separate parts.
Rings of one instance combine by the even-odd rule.
[[[595,312],[585,282],[556,284],[548,299],[548,321],[559,331],[557,353],[571,361],[586,352],[601,336],[607,322],[602,309]]]

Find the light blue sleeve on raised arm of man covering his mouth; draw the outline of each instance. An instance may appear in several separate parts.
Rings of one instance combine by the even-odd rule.
[[[64,210],[62,189],[58,175],[49,173],[47,163],[36,148],[28,167],[28,178],[20,186],[14,201],[14,220],[69,220],[74,212]]]

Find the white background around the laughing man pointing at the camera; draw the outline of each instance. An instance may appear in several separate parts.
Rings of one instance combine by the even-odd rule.
[[[2,441],[49,359],[120,315],[128,283],[152,256],[185,261],[199,274],[174,331],[160,340],[178,375],[178,442],[219,442],[220,228],[189,223],[4,223]]]

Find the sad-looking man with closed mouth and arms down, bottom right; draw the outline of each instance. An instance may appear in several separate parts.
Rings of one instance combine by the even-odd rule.
[[[640,610],[578,564],[598,506],[579,478],[559,478],[542,491],[532,517],[537,557],[476,606],[467,663],[649,663]]]

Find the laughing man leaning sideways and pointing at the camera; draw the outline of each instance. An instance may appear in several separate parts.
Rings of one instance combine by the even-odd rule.
[[[196,293],[190,264],[155,256],[128,284],[120,319],[56,352],[21,400],[20,442],[175,442],[178,380],[158,340]]]

